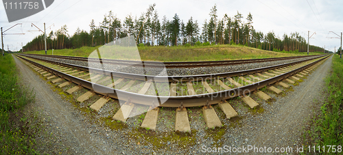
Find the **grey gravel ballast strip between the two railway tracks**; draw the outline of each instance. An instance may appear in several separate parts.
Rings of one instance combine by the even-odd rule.
[[[74,64],[78,66],[85,66],[85,67],[89,66],[91,68],[111,70],[115,72],[126,72],[126,73],[131,73],[131,74],[146,74],[146,75],[152,75],[152,76],[167,76],[167,75],[168,76],[187,76],[187,75],[200,75],[200,74],[216,74],[216,73],[222,73],[222,72],[236,72],[239,70],[251,70],[255,68],[263,68],[263,67],[268,67],[268,66],[287,64],[294,61],[301,61],[301,60],[313,58],[313,57],[310,57],[310,58],[304,57],[304,58],[297,58],[297,59],[265,61],[265,62],[259,62],[259,63],[198,67],[198,68],[164,68],[164,67],[143,68],[143,67],[133,67],[133,66],[118,66],[118,65],[106,64],[106,63],[101,65],[100,63],[95,63],[95,62],[78,61],[78,60],[71,60],[71,59],[60,59],[60,58],[44,57],[44,56],[36,56],[36,55],[30,55],[30,57],[36,57],[39,59],[47,59],[51,61],[58,61],[58,62]]]

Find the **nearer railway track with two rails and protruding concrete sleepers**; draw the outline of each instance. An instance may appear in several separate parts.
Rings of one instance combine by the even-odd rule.
[[[58,84],[58,87],[66,87],[74,83],[74,87],[67,89],[69,94],[73,94],[81,87],[88,89],[76,99],[79,102],[84,102],[95,94],[102,95],[102,98],[90,106],[95,111],[99,111],[109,98],[119,99],[121,108],[116,111],[113,119],[121,122],[126,122],[135,106],[145,106],[147,108],[141,112],[147,111],[147,113],[141,126],[154,130],[158,119],[158,107],[174,107],[176,108],[175,130],[179,131],[191,130],[187,107],[202,107],[207,127],[222,126],[211,105],[218,104],[226,118],[235,117],[238,115],[237,112],[226,100],[239,96],[251,109],[254,109],[259,104],[246,94],[254,94],[262,100],[270,100],[271,97],[259,89],[265,87],[275,94],[281,94],[281,87],[289,87],[289,83],[296,83],[329,57],[320,55],[288,64],[220,74],[148,76],[34,59],[29,55],[16,56],[26,61],[30,67],[46,76],[52,83]]]

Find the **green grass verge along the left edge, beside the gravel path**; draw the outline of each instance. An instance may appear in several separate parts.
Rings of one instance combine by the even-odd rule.
[[[22,126],[14,122],[25,122],[18,117],[25,104],[32,102],[32,91],[21,87],[16,76],[16,65],[12,55],[0,57],[0,150],[1,154],[36,154],[34,139],[25,134]]]

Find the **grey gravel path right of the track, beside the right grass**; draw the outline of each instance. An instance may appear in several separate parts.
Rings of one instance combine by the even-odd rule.
[[[324,79],[330,73],[331,61],[332,57],[324,61],[307,79],[293,86],[294,91],[276,99],[260,116],[244,118],[241,128],[228,132],[230,138],[226,141],[227,145],[251,145],[263,147],[263,150],[264,147],[271,147],[273,152],[276,147],[292,147],[292,153],[288,152],[290,154],[297,154],[297,147],[306,147],[301,135],[326,98]],[[248,153],[256,152],[250,150]]]

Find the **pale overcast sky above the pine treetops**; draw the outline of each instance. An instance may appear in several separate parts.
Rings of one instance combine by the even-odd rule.
[[[25,35],[4,36],[4,46],[5,49],[9,46],[11,51],[16,51],[21,49],[21,42],[25,45],[40,35],[40,32],[32,31],[37,29],[32,27],[31,23],[42,30],[43,23],[46,23],[46,27],[54,24],[51,29],[47,29],[47,33],[60,29],[62,25],[67,25],[68,33],[72,36],[78,27],[90,31],[89,24],[92,19],[99,26],[104,15],[110,10],[123,20],[128,14],[140,16],[152,3],[156,3],[155,10],[160,20],[163,16],[171,20],[177,13],[184,21],[193,16],[193,20],[198,20],[200,27],[205,19],[209,20],[209,12],[215,3],[219,18],[222,18],[224,14],[233,17],[238,11],[246,21],[246,16],[250,12],[253,17],[252,25],[257,31],[263,33],[274,31],[279,38],[283,38],[284,33],[297,31],[306,40],[307,31],[310,31],[310,36],[316,32],[309,43],[320,47],[325,45],[329,51],[334,51],[335,47],[340,46],[339,36],[329,31],[338,35],[343,31],[342,0],[55,0],[42,12],[12,23],[8,23],[4,5],[0,5],[0,27],[5,30],[16,23],[22,23],[21,26],[16,26],[6,33],[25,33]]]

